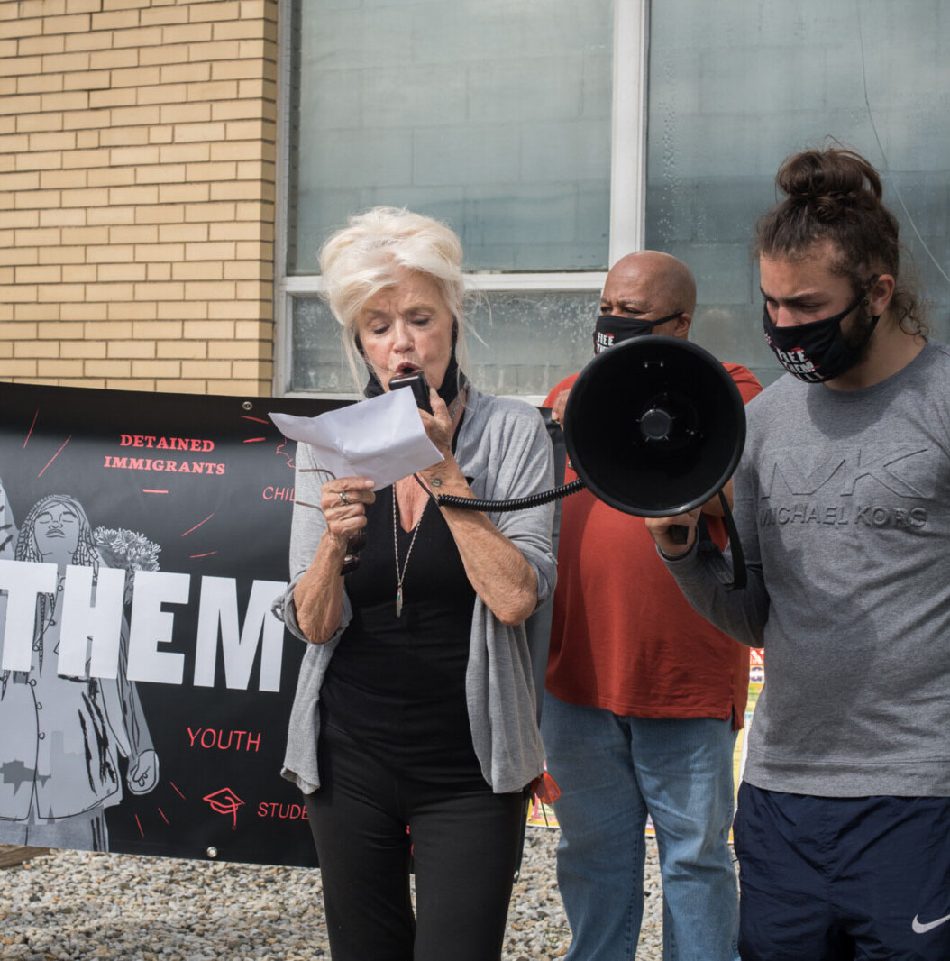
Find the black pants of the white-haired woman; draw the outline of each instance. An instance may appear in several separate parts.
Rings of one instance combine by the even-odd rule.
[[[500,958],[524,794],[400,776],[327,724],[320,778],[320,790],[304,802],[333,961]]]

